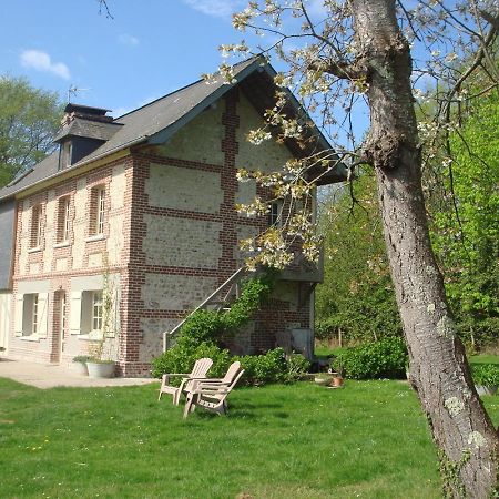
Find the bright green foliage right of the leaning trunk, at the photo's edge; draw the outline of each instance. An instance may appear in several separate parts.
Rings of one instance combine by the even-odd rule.
[[[462,119],[450,134],[452,159],[438,182],[428,182],[428,205],[460,336],[480,350],[499,339],[498,92],[469,105]]]

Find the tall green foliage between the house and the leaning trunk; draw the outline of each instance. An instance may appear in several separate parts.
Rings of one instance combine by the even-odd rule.
[[[324,284],[316,291],[318,339],[338,329],[346,340],[401,335],[369,172],[356,181],[355,196],[359,204],[354,206],[346,193],[329,196],[319,215],[326,259]]]

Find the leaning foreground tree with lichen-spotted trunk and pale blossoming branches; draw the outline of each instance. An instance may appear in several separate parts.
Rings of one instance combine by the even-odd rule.
[[[497,2],[327,0],[318,14],[308,7],[304,0],[252,1],[234,16],[234,26],[272,33],[265,52],[275,53],[288,68],[275,83],[293,85],[326,128],[340,129],[346,123],[344,139],[349,147],[342,141],[336,152],[350,171],[359,164],[374,169],[410,379],[439,448],[445,492],[489,497],[498,487],[498,434],[475,390],[430,244],[421,186],[427,157],[422,157],[421,142],[429,159],[441,135],[447,142],[452,109],[479,96],[462,92],[464,82],[478,68],[487,67],[489,86],[499,84],[491,63],[499,30]],[[225,54],[247,51],[244,42],[223,47]],[[416,57],[411,58],[411,51]],[[457,58],[471,62],[457,70],[452,64]],[[220,70],[228,82],[234,80],[228,64]],[[441,82],[444,90],[436,96],[434,121],[418,128],[413,83],[421,75]],[[276,105],[266,113],[268,125],[253,131],[248,140],[257,144],[277,135],[282,141],[306,141],[307,123],[287,115],[287,101],[286,91],[278,92]],[[367,136],[356,142],[352,112],[358,102],[367,104],[370,124]],[[333,152],[313,154],[287,162],[277,174],[243,172],[243,176],[274,186],[276,196],[303,203],[314,186],[307,171],[337,162]],[[273,230],[258,236],[255,246],[264,251],[253,264],[285,265],[289,258],[283,247],[288,238],[301,240],[304,254],[317,257],[312,222],[292,211],[287,220],[281,235]]]

